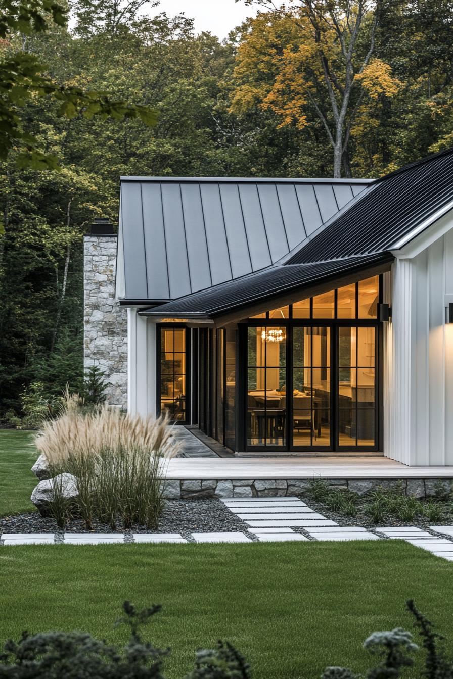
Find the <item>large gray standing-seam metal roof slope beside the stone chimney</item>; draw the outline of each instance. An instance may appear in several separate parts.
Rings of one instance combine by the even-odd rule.
[[[123,299],[168,300],[265,269],[368,180],[122,177]]]

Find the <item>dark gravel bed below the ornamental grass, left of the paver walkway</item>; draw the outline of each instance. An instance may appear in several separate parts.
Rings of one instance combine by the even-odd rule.
[[[65,532],[84,533],[84,521],[71,519],[65,526]],[[127,533],[181,533],[190,538],[191,532],[244,532],[247,525],[230,512],[220,500],[166,500],[164,511],[157,530],[147,530],[145,526],[135,525]],[[43,518],[38,512],[19,514],[0,519],[1,533],[42,533],[58,532],[54,519]],[[95,533],[111,533],[110,526],[101,521],[93,521]],[[117,532],[124,533],[121,522]],[[252,536],[250,536],[252,537]],[[126,540],[127,541],[127,540]]]

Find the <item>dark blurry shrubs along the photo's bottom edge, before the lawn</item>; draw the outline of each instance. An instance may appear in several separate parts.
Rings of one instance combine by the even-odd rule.
[[[414,627],[422,640],[424,667],[410,676],[424,679],[452,679],[453,660],[439,647],[442,637],[416,608],[407,602],[414,616]],[[83,632],[47,632],[29,636],[24,632],[19,642],[6,642],[0,655],[0,678],[5,679],[165,679],[164,659],[170,649],[155,648],[142,640],[139,629],[160,606],[137,611],[129,602],[123,606],[124,617],[117,621],[130,627],[130,640],[124,648],[98,641]],[[364,644],[378,664],[365,675],[354,674],[348,667],[327,667],[321,679],[399,679],[405,668],[414,665],[419,650],[409,631],[396,627],[374,632]],[[300,656],[301,676],[303,655]],[[185,679],[250,679],[249,664],[231,644],[217,643],[215,649],[199,649],[195,667]],[[284,678],[282,678],[284,679]]]

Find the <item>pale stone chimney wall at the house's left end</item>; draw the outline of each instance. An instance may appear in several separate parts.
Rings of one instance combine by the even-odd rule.
[[[115,301],[116,236],[84,237],[84,367],[98,365],[107,402],[128,401],[128,318]]]

